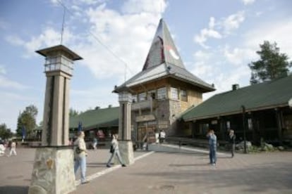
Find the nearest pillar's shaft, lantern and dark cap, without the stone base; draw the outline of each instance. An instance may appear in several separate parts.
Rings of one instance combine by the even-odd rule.
[[[46,57],[42,145],[68,145],[69,89],[73,60],[82,58],[63,45],[44,48],[37,53]]]

